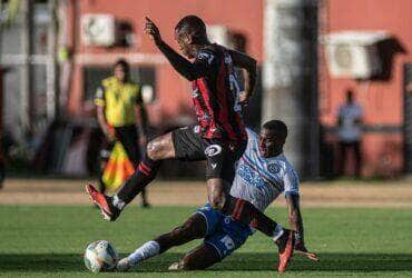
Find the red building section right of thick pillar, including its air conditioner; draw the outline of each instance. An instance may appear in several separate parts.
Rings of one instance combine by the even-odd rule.
[[[411,173],[412,1],[321,3],[318,111],[326,145],[337,106],[352,89],[364,112],[362,173]]]

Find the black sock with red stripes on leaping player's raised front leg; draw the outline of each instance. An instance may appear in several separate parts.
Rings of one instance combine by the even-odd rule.
[[[140,161],[134,175],[121,186],[117,197],[126,205],[129,203],[157,175],[160,161],[150,159],[148,156]]]

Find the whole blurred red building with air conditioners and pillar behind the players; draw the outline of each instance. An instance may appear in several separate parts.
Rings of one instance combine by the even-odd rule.
[[[120,57],[144,85],[153,133],[195,122],[189,82],[143,34],[148,16],[177,49],[174,27],[187,14],[205,20],[210,40],[256,58],[245,120],[285,120],[286,152],[302,176],[336,175],[336,113],[347,89],[364,112],[362,176],[412,172],[410,0],[0,2],[3,149],[40,172],[94,172],[92,98]]]

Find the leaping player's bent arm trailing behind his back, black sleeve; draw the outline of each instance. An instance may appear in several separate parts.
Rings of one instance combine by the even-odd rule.
[[[256,85],[256,76],[257,76],[256,60],[236,50],[229,50],[229,54],[232,57],[233,64],[235,67],[246,70],[246,75],[245,75],[246,95],[241,99],[241,102],[247,102],[247,100],[252,97],[253,91],[255,89],[255,85]]]

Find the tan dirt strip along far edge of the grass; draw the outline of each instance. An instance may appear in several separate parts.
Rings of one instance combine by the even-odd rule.
[[[87,181],[7,179],[0,190],[0,205],[89,205],[84,191]],[[202,181],[156,181],[148,191],[154,206],[199,206],[207,199]],[[412,208],[411,180],[303,182],[301,192],[303,207]],[[278,198],[275,206],[284,206],[284,198]]]

